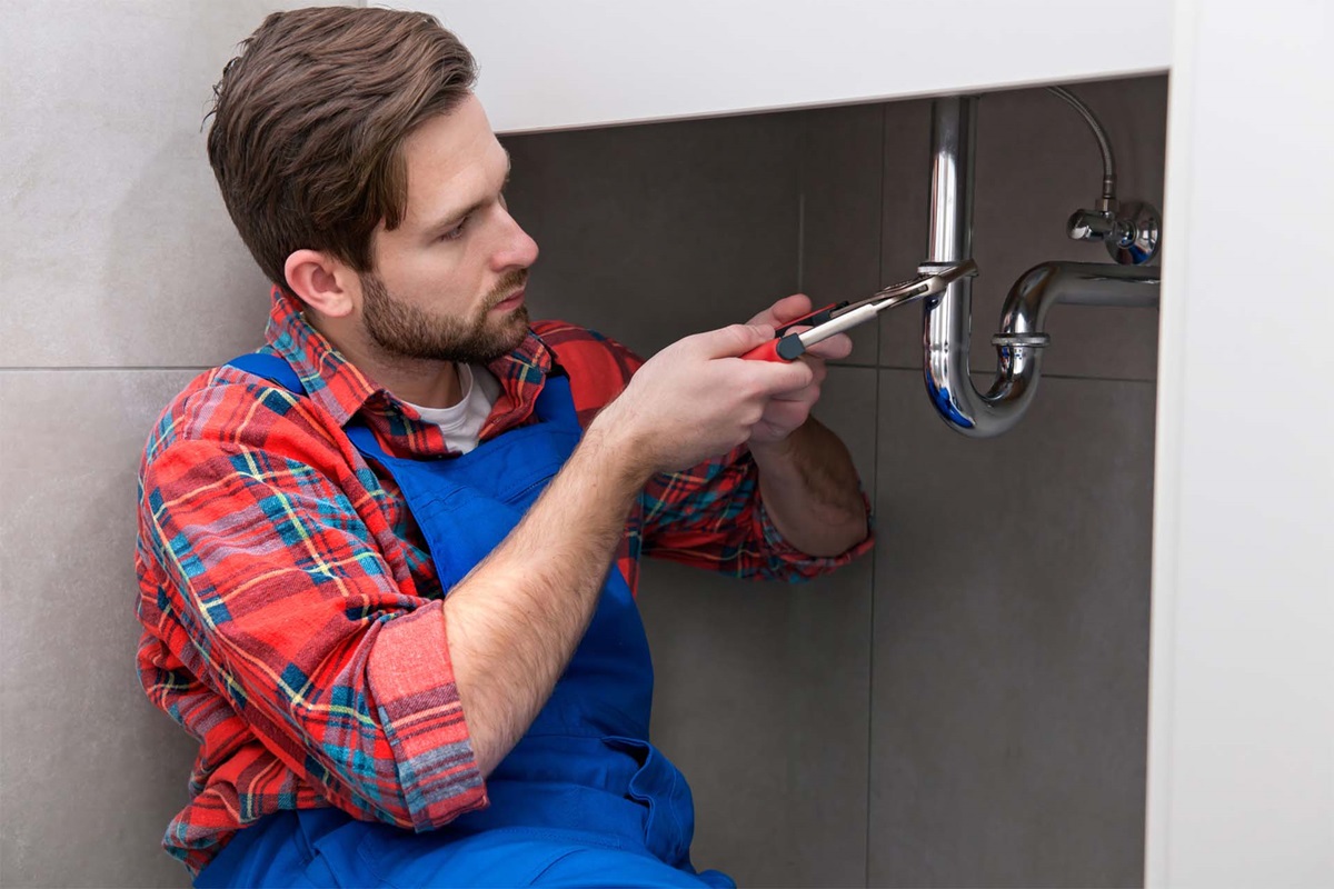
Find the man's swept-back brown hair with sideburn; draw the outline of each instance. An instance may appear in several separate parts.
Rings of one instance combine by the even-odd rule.
[[[448,113],[476,64],[432,16],[375,8],[275,12],[213,87],[208,160],[269,280],[297,249],[374,268],[371,237],[403,221],[403,141]]]

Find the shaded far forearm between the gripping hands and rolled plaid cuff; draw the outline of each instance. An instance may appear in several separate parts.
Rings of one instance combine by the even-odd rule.
[[[810,417],[787,439],[752,443],[759,489],[783,537],[811,556],[838,556],[866,538],[866,504],[847,448]]]

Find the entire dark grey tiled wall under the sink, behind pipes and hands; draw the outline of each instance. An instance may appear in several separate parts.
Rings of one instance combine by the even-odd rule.
[[[1161,207],[1166,80],[1077,88],[1122,196]],[[504,140],[543,247],[538,315],[642,353],[802,289],[818,304],[926,253],[926,101]],[[1101,159],[1037,91],[979,108],[974,368],[1010,284],[1050,259]],[[646,566],[655,740],[691,777],[695,864],[743,885],[1142,881],[1157,312],[1053,312],[1010,436],[930,411],[920,313],[856,332],[819,413],[872,492],[871,558],[815,584]],[[978,385],[986,380],[979,377]]]

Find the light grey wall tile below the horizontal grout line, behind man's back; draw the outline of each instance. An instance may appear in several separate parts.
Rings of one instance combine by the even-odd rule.
[[[135,672],[135,472],[193,371],[0,372],[4,885],[183,886],[197,745]]]

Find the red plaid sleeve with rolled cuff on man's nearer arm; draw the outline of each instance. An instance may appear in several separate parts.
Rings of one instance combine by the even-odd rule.
[[[160,632],[348,813],[422,830],[486,805],[440,602],[400,589],[375,545],[386,529],[328,474],[245,439],[176,440],[144,465]]]

